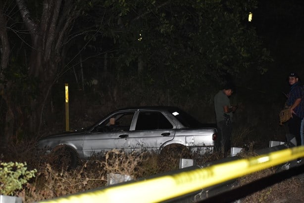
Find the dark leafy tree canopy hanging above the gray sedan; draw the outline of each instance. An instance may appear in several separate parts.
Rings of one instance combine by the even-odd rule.
[[[107,14],[110,9],[112,15],[93,16],[90,22],[111,42],[99,37],[92,47],[103,52],[116,48],[110,52],[115,74],[142,73],[143,82],[159,88],[197,91],[206,82],[267,71],[269,53],[247,20],[256,0],[96,3],[94,13]]]

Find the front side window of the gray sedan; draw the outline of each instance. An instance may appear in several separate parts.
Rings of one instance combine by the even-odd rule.
[[[129,131],[133,116],[134,112],[115,114],[97,126],[94,132]]]

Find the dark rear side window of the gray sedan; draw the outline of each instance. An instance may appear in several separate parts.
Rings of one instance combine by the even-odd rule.
[[[135,130],[172,129],[172,124],[158,111],[140,112]]]

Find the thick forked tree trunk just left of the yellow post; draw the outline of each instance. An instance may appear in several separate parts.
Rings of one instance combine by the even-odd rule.
[[[31,33],[32,52],[29,63],[30,77],[40,80],[40,95],[31,100],[29,128],[39,133],[42,123],[48,118],[51,87],[60,72],[63,45],[73,21],[79,16],[74,0],[44,0],[39,24],[31,18],[24,0],[16,0],[23,22]],[[51,112],[51,111],[50,111]]]

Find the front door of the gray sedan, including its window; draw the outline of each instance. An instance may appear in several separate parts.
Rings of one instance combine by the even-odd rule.
[[[112,149],[128,149],[130,126],[134,111],[114,113],[85,135],[83,150],[85,157]]]

